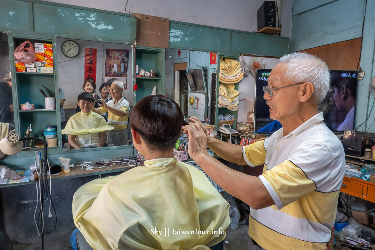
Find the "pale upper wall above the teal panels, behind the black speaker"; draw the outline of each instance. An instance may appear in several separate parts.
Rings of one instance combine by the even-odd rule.
[[[122,13],[142,13],[145,15],[162,16],[174,21],[213,27],[257,31],[257,10],[264,0],[111,0],[110,4],[108,4],[108,1],[101,0],[47,1]],[[279,9],[285,7],[287,10],[285,11],[285,18],[281,17],[281,23],[286,28],[282,36],[290,37],[292,22],[291,6],[293,0],[278,0],[278,4]],[[103,27],[105,25],[108,24],[103,24]],[[101,24],[96,24],[96,26],[101,27]]]

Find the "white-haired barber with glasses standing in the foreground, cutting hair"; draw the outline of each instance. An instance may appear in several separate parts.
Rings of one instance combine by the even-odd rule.
[[[270,118],[283,127],[264,141],[241,147],[213,139],[196,117],[183,126],[192,159],[250,205],[248,249],[326,249],[345,172],[342,144],[318,112],[329,78],[326,63],[313,55],[283,56],[264,88]],[[208,156],[206,143],[229,162],[264,164],[263,174],[228,168]]]

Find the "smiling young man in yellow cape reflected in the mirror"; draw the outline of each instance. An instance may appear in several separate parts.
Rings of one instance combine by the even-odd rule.
[[[107,140],[107,131],[113,127],[108,125],[101,115],[91,111],[94,105],[92,94],[79,94],[77,105],[81,112],[69,119],[61,133],[68,134],[69,144],[75,149],[103,147]]]

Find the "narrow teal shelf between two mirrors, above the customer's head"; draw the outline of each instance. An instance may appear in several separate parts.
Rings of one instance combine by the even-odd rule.
[[[133,84],[138,85],[133,90],[133,106],[145,96],[149,96],[154,87],[156,94],[165,94],[165,49],[133,46]],[[139,69],[150,72],[151,69],[160,77],[136,77],[135,65]]]

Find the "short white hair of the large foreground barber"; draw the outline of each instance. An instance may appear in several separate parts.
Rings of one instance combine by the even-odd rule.
[[[318,104],[324,100],[330,87],[331,74],[323,60],[305,52],[295,52],[281,57],[280,63],[287,65],[285,78],[291,83],[311,82],[314,85],[312,97]]]

